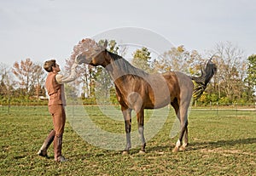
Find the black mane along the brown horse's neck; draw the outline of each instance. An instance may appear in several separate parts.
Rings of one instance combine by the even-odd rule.
[[[122,56],[118,54],[113,54],[107,51],[111,58],[114,60],[114,64],[117,65],[120,71],[124,72],[127,75],[133,75],[138,77],[147,77],[148,73],[136,68],[135,66],[131,65],[127,60],[125,60]]]

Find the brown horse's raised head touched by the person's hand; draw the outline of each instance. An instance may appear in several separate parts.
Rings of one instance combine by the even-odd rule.
[[[104,57],[102,57],[105,53],[105,50],[108,46],[107,40],[104,45],[100,45],[95,43],[93,45],[88,45],[87,48],[80,54],[76,56],[76,61],[79,64],[88,64],[88,65],[103,65],[105,63]]]

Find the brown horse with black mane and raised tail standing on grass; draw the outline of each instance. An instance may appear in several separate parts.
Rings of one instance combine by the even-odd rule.
[[[107,40],[103,46],[98,43],[90,45],[86,51],[78,54],[75,60],[79,64],[101,65],[112,78],[125,120],[126,145],[123,154],[129,154],[131,149],[131,111],[135,111],[137,115],[138,133],[142,142],[139,152],[144,153],[146,147],[143,133],[144,109],[162,108],[170,104],[180,122],[179,137],[172,152],[185,150],[189,143],[188,109],[190,101],[193,94],[195,94],[195,99],[200,98],[216,72],[217,67],[212,63],[212,58],[208,60],[205,70],[201,70],[201,77],[189,77],[178,71],[149,74],[131,65],[118,54],[109,52],[107,46]],[[194,88],[192,80],[199,85],[197,88]]]

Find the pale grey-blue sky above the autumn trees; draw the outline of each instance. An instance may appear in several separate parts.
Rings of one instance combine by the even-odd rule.
[[[0,0],[0,63],[55,58],[64,64],[83,38],[127,27],[199,53],[228,41],[248,56],[256,54],[255,21],[253,0]]]

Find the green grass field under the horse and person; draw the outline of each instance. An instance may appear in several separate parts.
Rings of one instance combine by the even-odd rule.
[[[100,128],[124,133],[121,116],[118,121],[113,120],[92,106],[86,107],[86,112]],[[146,122],[152,113],[145,113]],[[130,155],[122,156],[121,150],[102,149],[82,139],[73,129],[73,118],[69,117],[62,150],[69,161],[56,163],[52,145],[50,159],[37,155],[52,128],[47,106],[11,107],[9,113],[3,107],[0,175],[256,175],[255,111],[222,110],[217,114],[213,110],[192,109],[189,146],[178,153],[172,153],[177,136],[170,139],[174,120],[170,111],[159,132],[147,140],[146,154],[138,154],[139,147],[135,147]],[[137,130],[136,119],[132,130]]]

